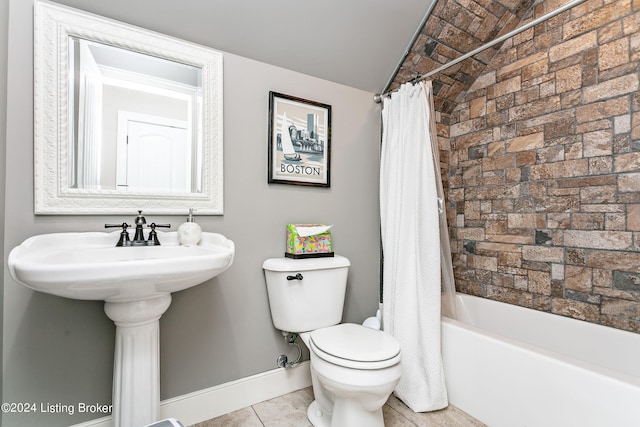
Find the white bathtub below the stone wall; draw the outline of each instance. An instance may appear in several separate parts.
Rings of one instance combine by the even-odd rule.
[[[640,334],[469,295],[443,318],[449,402],[490,427],[640,426]]]

